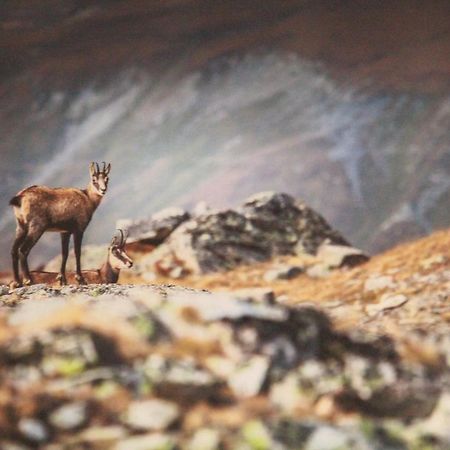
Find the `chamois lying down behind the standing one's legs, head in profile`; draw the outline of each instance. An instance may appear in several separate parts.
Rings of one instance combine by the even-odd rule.
[[[109,284],[117,283],[120,269],[133,267],[133,260],[125,251],[126,236],[122,230],[118,230],[120,235],[114,236],[108,247],[108,254],[105,263],[98,270],[83,270],[83,278],[87,284]],[[56,272],[31,272],[35,283],[56,284],[58,274]],[[76,275],[73,272],[67,273],[69,284],[75,284]]]

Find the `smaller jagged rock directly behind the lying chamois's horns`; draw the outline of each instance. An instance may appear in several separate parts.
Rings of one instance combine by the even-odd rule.
[[[116,228],[128,231],[127,243],[129,244],[146,242],[159,245],[189,217],[189,213],[181,208],[166,208],[153,214],[149,219],[119,220]]]

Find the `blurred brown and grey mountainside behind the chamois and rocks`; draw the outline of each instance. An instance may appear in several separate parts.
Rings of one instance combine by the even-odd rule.
[[[9,197],[83,186],[93,159],[113,169],[91,241],[268,189],[369,250],[448,226],[450,4],[392,3],[2,2],[2,254]]]

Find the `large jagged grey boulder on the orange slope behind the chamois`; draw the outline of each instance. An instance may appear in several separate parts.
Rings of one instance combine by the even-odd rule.
[[[323,242],[348,245],[325,219],[287,194],[264,192],[236,210],[208,212],[188,220],[137,265],[141,273],[170,276],[228,270],[274,255],[315,254]]]

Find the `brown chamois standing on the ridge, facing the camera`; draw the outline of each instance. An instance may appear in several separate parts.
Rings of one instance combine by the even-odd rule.
[[[32,283],[28,254],[46,231],[61,233],[62,261],[58,275],[61,285],[67,283],[66,262],[70,235],[73,234],[76,280],[79,284],[84,283],[80,263],[83,233],[106,193],[110,170],[111,164],[103,163],[100,170],[97,163],[91,163],[91,181],[87,189],[30,186],[10,200],[9,204],[14,207],[17,222],[16,239],[11,250],[15,286],[21,284],[19,260],[24,277],[23,284]]]

